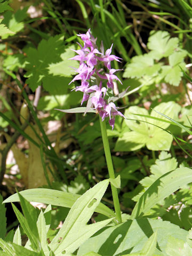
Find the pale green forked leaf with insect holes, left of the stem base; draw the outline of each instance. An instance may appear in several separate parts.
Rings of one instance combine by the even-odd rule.
[[[108,219],[86,225],[95,208],[99,205],[108,184],[109,180],[103,180],[77,199],[57,236],[49,244],[55,254],[73,253],[86,239],[111,221],[111,219]],[[59,238],[61,238],[61,241],[59,241]]]

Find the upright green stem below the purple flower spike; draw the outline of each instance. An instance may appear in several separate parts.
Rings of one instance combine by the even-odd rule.
[[[101,117],[99,117],[99,120],[100,120],[100,126],[101,126],[103,147],[104,147],[104,151],[105,151],[106,162],[107,162],[107,167],[108,167],[108,172],[109,172],[109,178],[115,179],[114,167],[113,167],[113,162],[112,162],[112,158],[111,158],[111,154],[110,154],[109,141],[108,141],[108,137],[107,137],[106,123],[105,123],[105,121],[102,122]],[[116,218],[117,218],[118,223],[121,223],[122,222],[121,209],[120,209],[120,205],[119,205],[117,188],[115,188],[112,184],[111,184],[111,191],[112,191],[112,196],[113,196],[113,201],[114,201]]]

